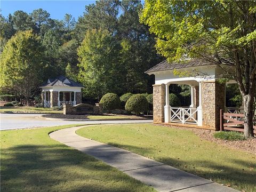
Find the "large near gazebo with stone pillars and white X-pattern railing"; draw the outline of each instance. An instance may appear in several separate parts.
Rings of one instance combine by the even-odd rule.
[[[197,75],[177,76],[173,71]],[[154,123],[179,126],[200,127],[219,130],[220,109],[226,108],[226,84],[217,79],[223,70],[233,70],[227,65],[213,65],[202,59],[187,59],[183,63],[169,63],[167,60],[147,70],[148,75],[155,75],[153,85]],[[228,83],[235,83],[230,81]],[[191,87],[191,105],[172,107],[169,103],[169,85],[186,84]]]

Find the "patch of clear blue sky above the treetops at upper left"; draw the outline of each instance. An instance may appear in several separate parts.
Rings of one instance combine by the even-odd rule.
[[[83,15],[85,5],[95,1],[2,1],[0,2],[1,13],[6,18],[9,13],[17,10],[31,13],[35,9],[42,8],[51,14],[52,19],[63,19],[66,13],[71,14],[76,20]]]

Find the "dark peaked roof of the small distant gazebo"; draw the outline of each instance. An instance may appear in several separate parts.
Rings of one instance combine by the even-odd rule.
[[[66,81],[65,81],[66,80]],[[70,82],[70,83],[69,83]],[[41,87],[44,86],[73,86],[73,87],[83,87],[80,83],[77,83],[63,75],[49,79],[46,83],[44,83]]]

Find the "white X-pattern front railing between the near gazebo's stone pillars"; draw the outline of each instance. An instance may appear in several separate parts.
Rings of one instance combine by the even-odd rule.
[[[189,107],[171,107],[170,122],[197,124],[197,109]]]

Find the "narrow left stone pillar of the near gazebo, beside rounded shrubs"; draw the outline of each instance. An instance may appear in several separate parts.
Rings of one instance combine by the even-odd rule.
[[[153,121],[164,122],[165,84],[153,85]]]

